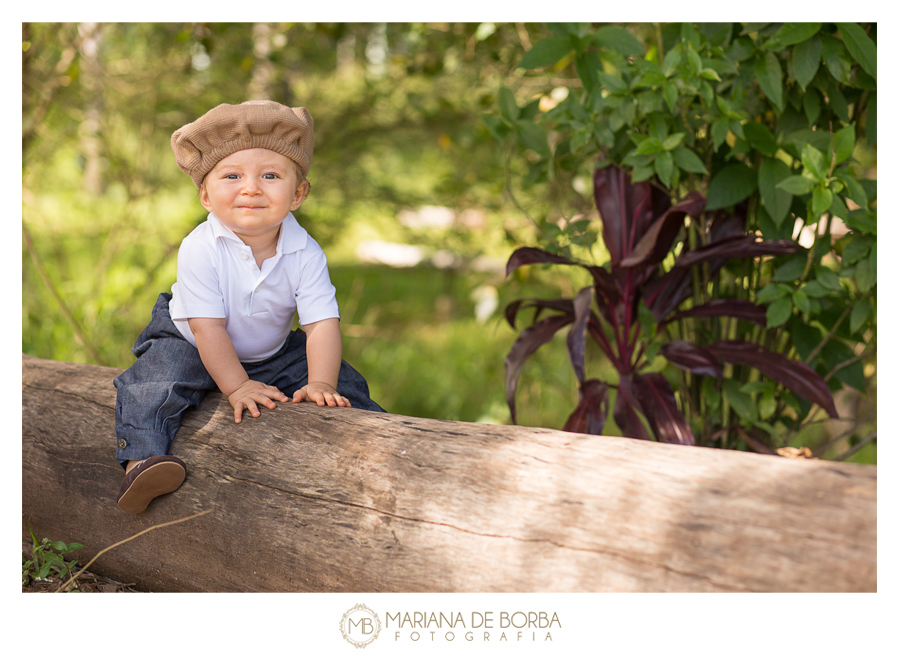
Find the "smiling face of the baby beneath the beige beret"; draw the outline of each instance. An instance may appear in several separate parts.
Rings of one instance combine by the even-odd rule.
[[[293,162],[269,149],[236,151],[203,181],[200,203],[238,237],[277,234],[288,211],[300,207],[308,183],[297,185]]]

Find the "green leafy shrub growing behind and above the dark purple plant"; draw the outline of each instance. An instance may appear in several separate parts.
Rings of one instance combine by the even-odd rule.
[[[547,183],[560,197],[567,189],[577,196],[570,186],[579,177],[614,165],[630,172],[632,185],[646,182],[669,198],[701,194],[705,210],[676,227],[653,276],[671,273],[688,252],[709,249],[724,216],[738,218],[745,235],[794,243],[780,254],[727,258],[720,267],[695,260],[685,280],[689,294],[670,309],[679,321],[656,329],[666,341],[752,343],[808,365],[832,391],[865,390],[864,362],[874,362],[876,345],[877,188],[868,167],[877,141],[875,25],[547,29],[519,67],[526,78],[574,74],[580,86],[551,96],[548,82],[521,103],[502,88],[499,114],[485,118],[492,135],[527,163],[522,186]],[[598,206],[606,239],[619,220]],[[584,227],[573,235],[571,222],[539,225],[554,227],[543,231],[546,252],[579,262],[576,254],[589,246]],[[581,262],[614,274],[611,255],[602,267]],[[690,313],[714,302],[761,307],[764,321]],[[644,294],[634,303],[652,307]],[[651,344],[646,330],[646,323],[628,327],[626,342],[644,331]],[[732,362],[721,379],[704,381],[674,368],[684,367],[679,356],[660,350],[645,365],[674,386],[703,444],[770,451],[812,420],[808,395],[761,378],[748,363]]]

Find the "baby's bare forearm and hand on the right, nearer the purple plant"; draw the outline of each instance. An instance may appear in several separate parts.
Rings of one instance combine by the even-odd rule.
[[[341,328],[337,318],[303,325],[309,383],[294,392],[294,402],[309,400],[320,407],[350,407],[350,400],[337,392],[341,369]]]

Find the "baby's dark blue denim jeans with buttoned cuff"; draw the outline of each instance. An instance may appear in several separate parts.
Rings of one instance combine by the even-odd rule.
[[[218,390],[197,348],[172,322],[170,299],[169,293],[160,294],[150,324],[131,349],[137,361],[113,380],[116,459],[123,468],[132,459],[168,454],[184,412],[199,406],[207,391]],[[241,365],[250,379],[275,386],[291,397],[309,378],[306,334],[292,331],[273,356]],[[369,397],[366,380],[346,361],[341,361],[337,389],[354,409],[384,411]]]

